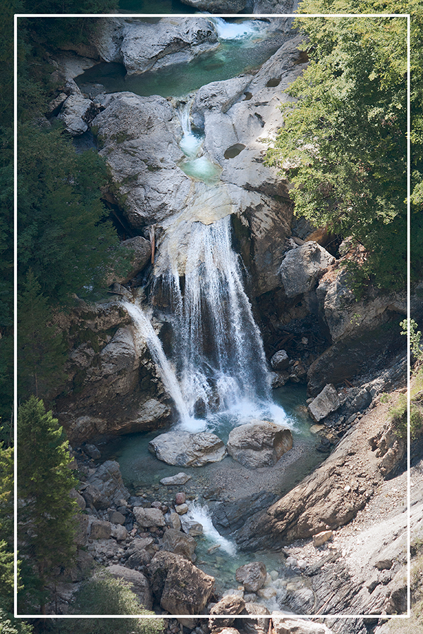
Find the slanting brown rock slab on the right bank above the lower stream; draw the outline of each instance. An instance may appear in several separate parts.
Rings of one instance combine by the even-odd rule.
[[[247,522],[237,537],[241,547],[250,549],[269,540],[274,545],[292,542],[355,517],[388,473],[384,461],[392,470],[405,451],[404,442],[388,432],[387,411],[386,404],[369,411],[319,468],[266,514]],[[390,440],[385,444],[382,438]]]

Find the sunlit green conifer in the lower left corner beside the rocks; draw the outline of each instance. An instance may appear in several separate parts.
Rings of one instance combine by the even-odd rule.
[[[20,600],[44,614],[47,583],[75,554],[78,505],[68,441],[51,411],[32,396],[18,411],[18,539],[24,590]]]

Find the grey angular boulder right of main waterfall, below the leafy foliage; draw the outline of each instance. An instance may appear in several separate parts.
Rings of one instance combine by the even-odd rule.
[[[286,296],[296,297],[313,290],[334,262],[335,258],[313,241],[288,251],[279,269]]]

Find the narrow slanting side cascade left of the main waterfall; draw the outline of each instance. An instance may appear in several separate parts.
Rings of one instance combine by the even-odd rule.
[[[136,304],[130,304],[129,302],[123,302],[123,306],[125,306],[125,309],[128,311],[133,320],[133,323],[137,327],[136,332],[139,332],[140,335],[147,342],[147,346],[150,354],[152,355],[153,361],[159,367],[161,380],[163,381],[166,389],[175,402],[175,406],[178,410],[181,421],[188,421],[190,417],[188,414],[187,406],[183,399],[183,395],[180,392],[178,379],[173,372],[171,364],[169,363],[168,359],[166,359],[166,354],[164,354],[163,347],[161,346],[161,341],[159,340],[156,332],[154,332],[152,323],[149,321],[147,315],[140,308],[140,306],[137,306]]]

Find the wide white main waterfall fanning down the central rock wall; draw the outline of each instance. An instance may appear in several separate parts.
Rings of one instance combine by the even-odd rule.
[[[262,337],[231,242],[230,216],[209,225],[194,222],[185,268],[169,249],[161,276],[173,309],[173,361],[190,416],[271,400]]]

